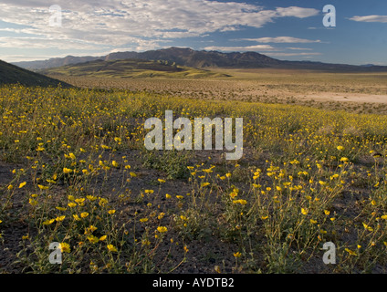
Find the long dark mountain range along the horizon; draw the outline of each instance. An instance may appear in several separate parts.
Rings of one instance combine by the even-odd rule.
[[[191,68],[292,68],[312,69],[322,71],[338,72],[381,72],[387,71],[387,66],[355,66],[346,64],[329,64],[311,61],[284,61],[256,52],[232,52],[223,53],[218,51],[198,51],[188,47],[170,47],[145,52],[115,52],[100,57],[55,57],[39,61],[15,62],[16,66],[31,70],[57,68],[66,65],[84,63],[94,60],[117,60],[117,59],[142,59],[142,60],[165,60],[179,66]]]

